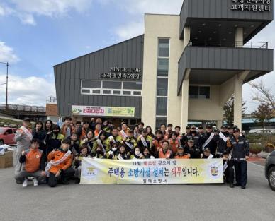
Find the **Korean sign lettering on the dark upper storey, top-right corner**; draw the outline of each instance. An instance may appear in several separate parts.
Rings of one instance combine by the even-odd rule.
[[[232,11],[270,11],[271,0],[232,0]]]

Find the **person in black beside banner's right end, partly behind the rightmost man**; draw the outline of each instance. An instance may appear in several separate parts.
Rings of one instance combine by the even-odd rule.
[[[223,151],[223,174],[226,183],[229,183],[231,188],[234,187],[234,169],[233,169],[232,157],[228,150]]]

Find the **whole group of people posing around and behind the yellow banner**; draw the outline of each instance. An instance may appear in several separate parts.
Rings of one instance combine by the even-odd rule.
[[[111,121],[92,118],[90,122],[72,123],[65,117],[64,124],[52,121],[38,121],[30,129],[30,119],[23,120],[23,126],[16,131],[16,182],[28,185],[47,183],[69,184],[69,179],[79,183],[81,164],[84,157],[111,160],[129,159],[211,159],[223,158],[225,182],[230,187],[247,184],[247,160],[249,141],[237,126],[221,126],[220,130],[211,125],[181,127],[162,124],[156,133],[140,122],[130,129],[124,122],[119,127]],[[233,169],[234,168],[234,169]],[[236,183],[233,184],[234,178]]]

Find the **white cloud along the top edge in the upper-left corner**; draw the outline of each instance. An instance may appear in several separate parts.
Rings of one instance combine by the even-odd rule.
[[[69,11],[83,12],[91,0],[11,0],[9,6],[0,4],[0,16],[13,15],[23,24],[36,25],[35,16],[61,17]]]

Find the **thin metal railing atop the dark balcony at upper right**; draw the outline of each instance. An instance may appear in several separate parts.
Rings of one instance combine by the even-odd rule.
[[[243,48],[257,48],[257,49],[268,49],[268,42],[212,42],[212,41],[190,41],[187,46],[196,47],[243,47]]]

